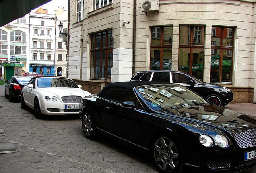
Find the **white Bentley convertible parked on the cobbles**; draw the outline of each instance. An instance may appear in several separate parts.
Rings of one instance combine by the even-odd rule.
[[[34,109],[37,119],[43,115],[79,114],[82,97],[90,95],[72,79],[61,77],[33,77],[21,92],[21,108]]]

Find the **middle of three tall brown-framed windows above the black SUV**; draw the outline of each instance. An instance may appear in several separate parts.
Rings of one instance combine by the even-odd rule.
[[[180,26],[179,71],[203,79],[204,26]]]

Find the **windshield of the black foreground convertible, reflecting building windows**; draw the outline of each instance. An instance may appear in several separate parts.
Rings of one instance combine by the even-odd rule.
[[[153,109],[209,105],[202,97],[183,86],[140,86],[136,89]]]

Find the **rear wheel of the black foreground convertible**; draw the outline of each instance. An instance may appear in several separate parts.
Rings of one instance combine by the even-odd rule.
[[[82,115],[82,129],[85,137],[88,139],[95,139],[97,137],[97,129],[95,119],[90,112],[84,112]]]

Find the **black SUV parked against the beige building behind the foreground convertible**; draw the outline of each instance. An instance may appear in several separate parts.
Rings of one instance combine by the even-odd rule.
[[[209,84],[191,76],[186,72],[178,71],[141,71],[136,72],[131,81],[161,81],[182,84],[196,92],[204,99],[218,106],[225,106],[233,101],[233,92],[219,84]]]

